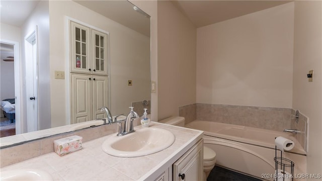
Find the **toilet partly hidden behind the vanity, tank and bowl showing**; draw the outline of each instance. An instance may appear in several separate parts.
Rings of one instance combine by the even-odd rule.
[[[165,123],[175,126],[185,127],[185,118],[179,116],[173,116],[164,120],[158,121],[159,123]],[[203,146],[203,179],[206,180],[210,171],[216,163],[216,152],[207,146]]]

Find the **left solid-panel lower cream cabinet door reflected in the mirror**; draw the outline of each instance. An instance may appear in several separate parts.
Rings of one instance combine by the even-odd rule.
[[[70,74],[71,124],[92,120],[92,76]]]

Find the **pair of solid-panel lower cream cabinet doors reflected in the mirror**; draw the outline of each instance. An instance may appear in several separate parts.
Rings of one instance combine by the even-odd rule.
[[[104,118],[101,108],[108,107],[108,77],[70,74],[71,124]]]

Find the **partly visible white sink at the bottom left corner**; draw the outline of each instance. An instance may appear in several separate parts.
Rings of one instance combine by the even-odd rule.
[[[40,169],[14,169],[1,172],[0,180],[53,180],[51,175]]]

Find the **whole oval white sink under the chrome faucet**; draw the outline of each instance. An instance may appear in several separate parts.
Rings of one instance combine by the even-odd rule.
[[[118,157],[136,157],[164,150],[175,141],[175,135],[161,128],[142,128],[124,136],[110,136],[102,145],[104,152]]]

